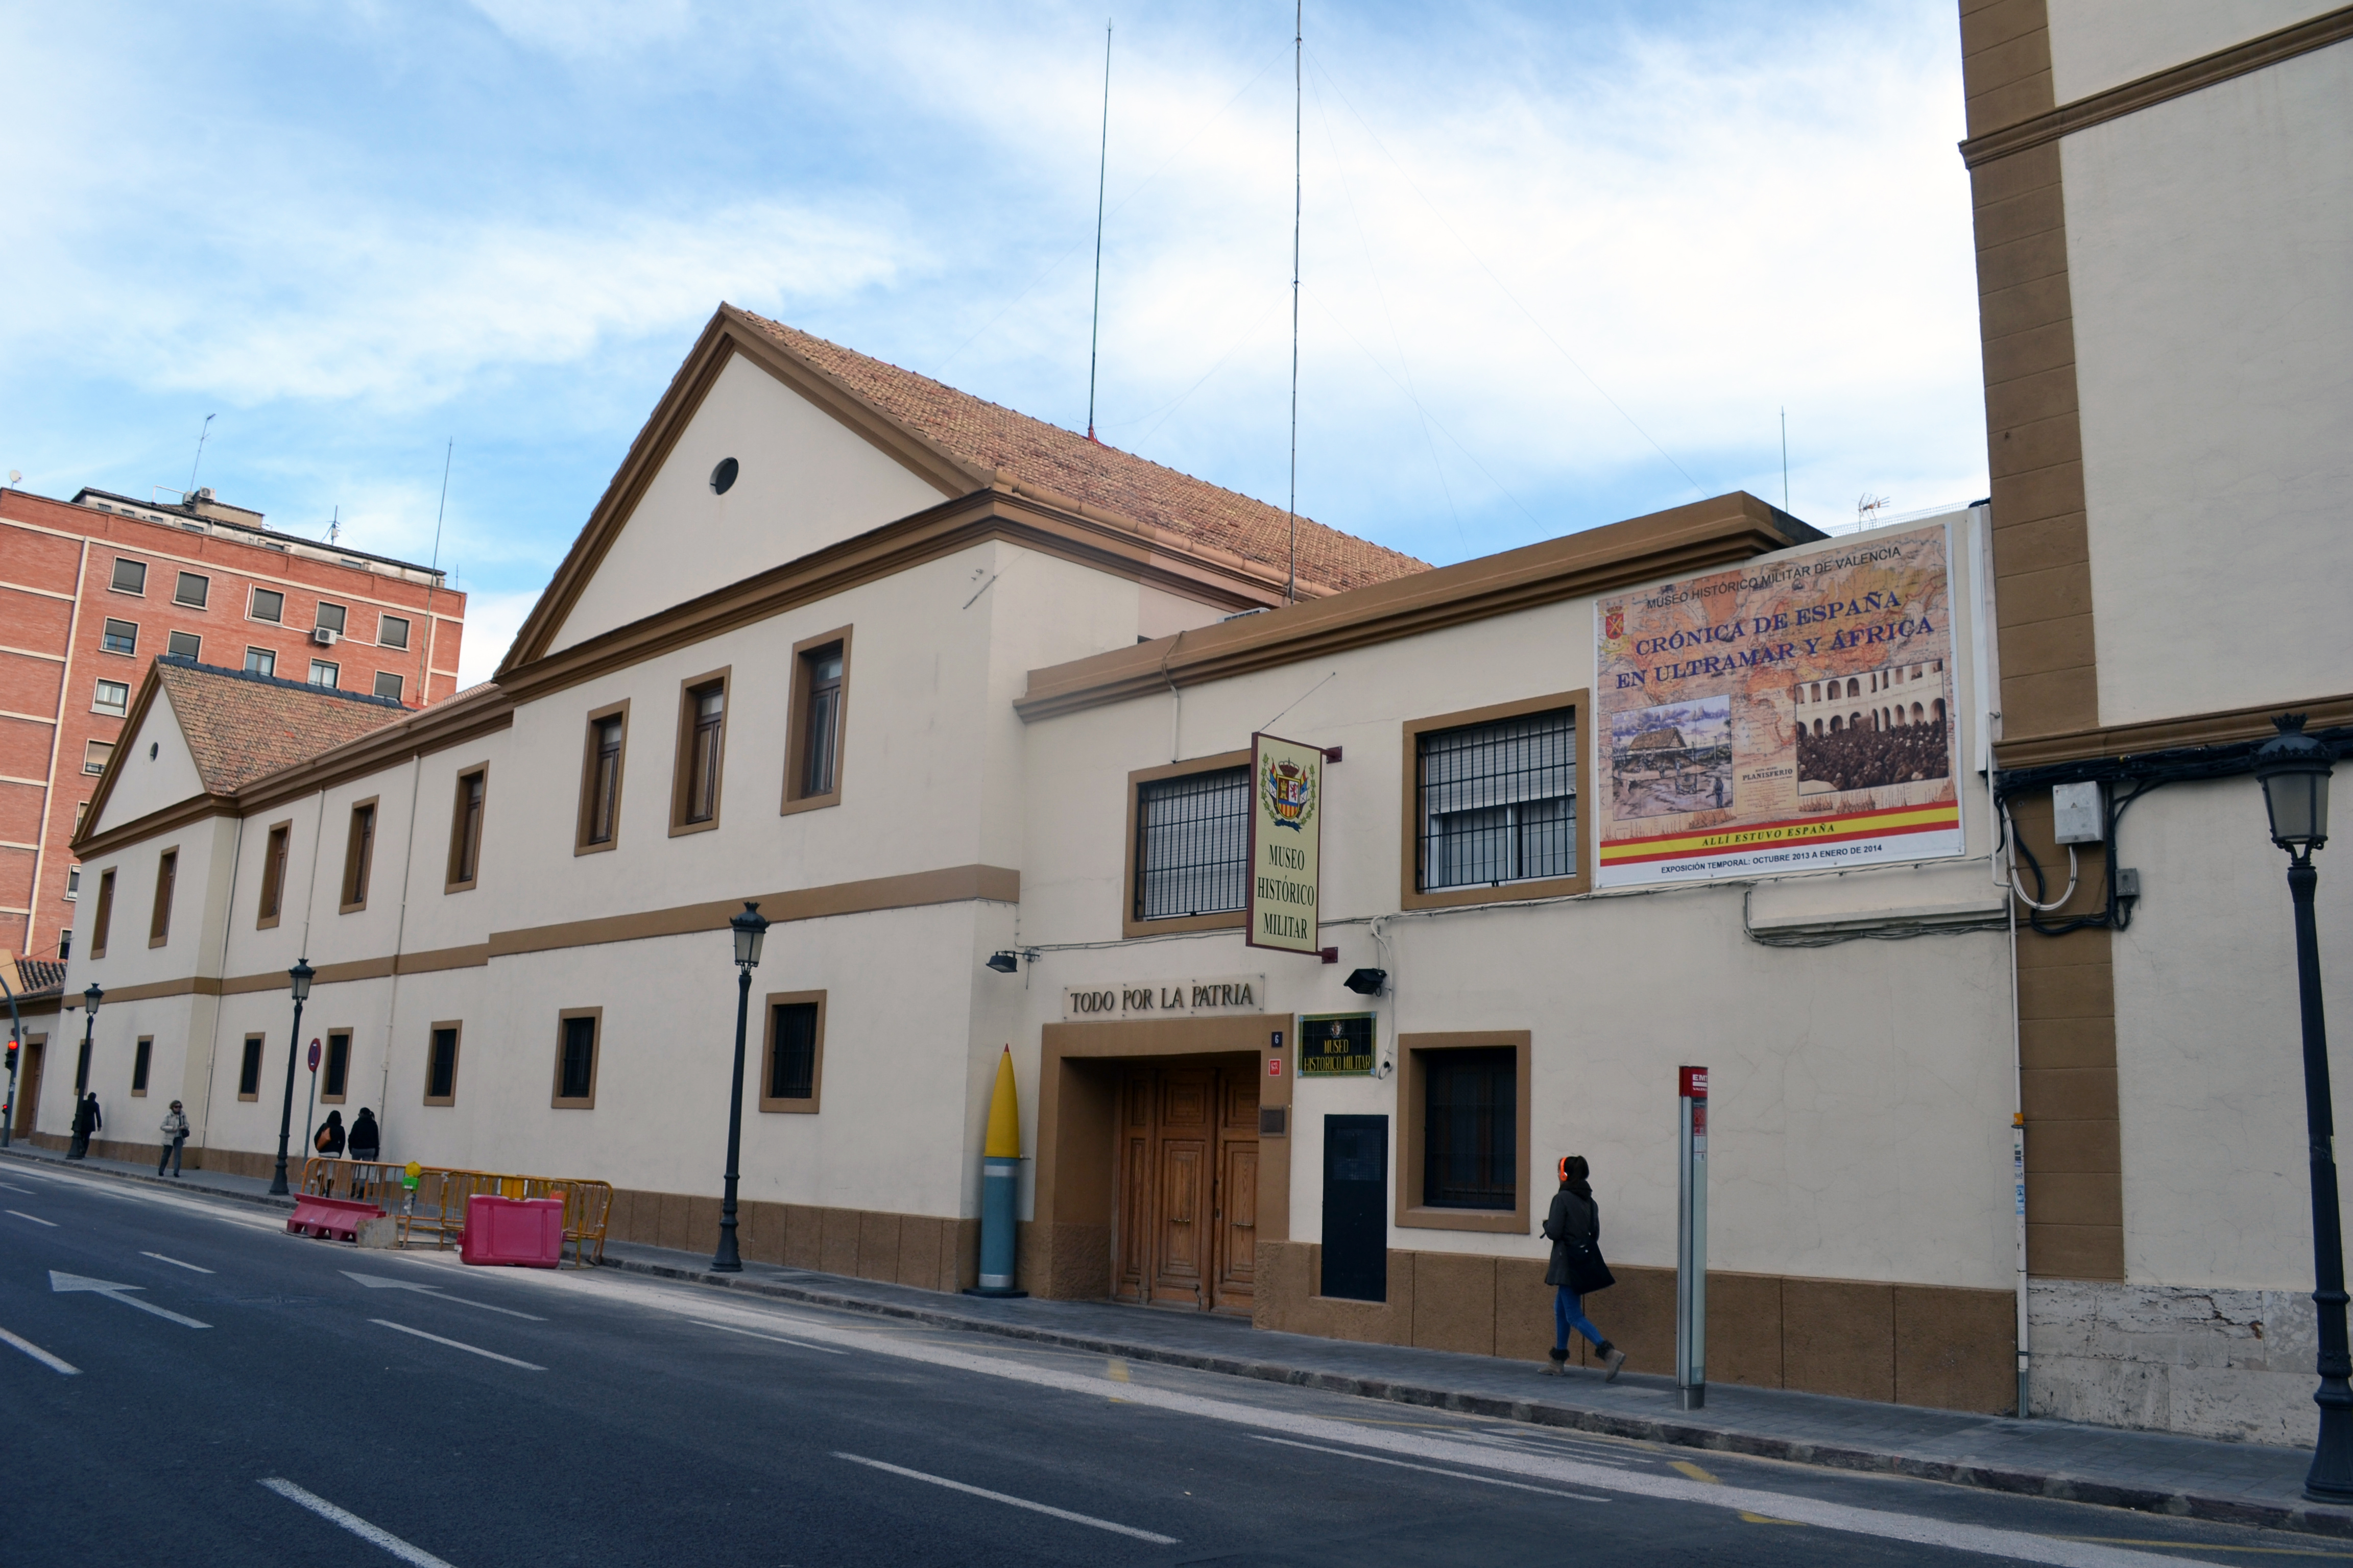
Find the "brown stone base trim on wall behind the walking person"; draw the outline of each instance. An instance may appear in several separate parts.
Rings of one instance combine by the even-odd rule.
[[[1553,1291],[1541,1258],[1388,1253],[1388,1300],[1315,1295],[1322,1248],[1259,1246],[1259,1328],[1544,1361]],[[1638,1373],[1675,1371],[1675,1272],[1614,1265],[1586,1316]],[[1593,1347],[1574,1340],[1579,1366]],[[1984,1410],[2017,1403],[2009,1291],[1708,1272],[1708,1380],[1845,1399]]]

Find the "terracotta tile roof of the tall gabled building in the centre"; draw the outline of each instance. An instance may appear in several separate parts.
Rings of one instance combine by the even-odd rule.
[[[1273,571],[1289,567],[1289,515],[1162,468],[1118,447],[1028,414],[958,393],[929,376],[871,360],[840,343],[744,313],[788,350],[845,383],[868,404],[976,468],[1002,468],[1026,484],[1198,538]],[[1428,562],[1369,538],[1299,520],[1299,581],[1325,590],[1365,588],[1428,571]]]

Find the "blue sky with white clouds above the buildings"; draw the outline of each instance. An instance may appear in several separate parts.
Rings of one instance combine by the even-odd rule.
[[[720,299],[1082,428],[1104,12],[9,7],[0,470],[424,559],[485,675]],[[1948,2],[1306,14],[1299,505],[1986,487]],[[1292,9],[1115,12],[1096,425],[1282,501]]]

